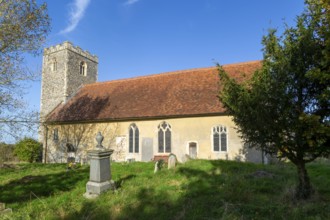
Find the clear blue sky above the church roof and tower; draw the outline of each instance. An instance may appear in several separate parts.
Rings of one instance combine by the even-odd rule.
[[[98,81],[262,59],[262,36],[293,25],[303,0],[38,0],[46,47],[71,41],[99,57]],[[41,71],[42,56],[27,65]],[[26,100],[39,110],[40,81]]]

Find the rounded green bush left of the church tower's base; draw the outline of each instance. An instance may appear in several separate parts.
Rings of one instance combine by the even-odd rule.
[[[42,144],[33,138],[25,137],[16,143],[14,153],[21,161],[29,163],[40,161]]]

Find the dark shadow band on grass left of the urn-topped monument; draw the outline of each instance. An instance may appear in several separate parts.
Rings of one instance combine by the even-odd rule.
[[[48,175],[27,175],[0,186],[0,201],[23,203],[37,197],[48,197],[56,192],[73,189],[79,182],[88,181],[89,168],[63,171]],[[34,194],[34,195],[33,195]]]

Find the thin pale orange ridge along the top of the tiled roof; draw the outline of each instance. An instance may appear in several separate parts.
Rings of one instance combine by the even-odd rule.
[[[233,63],[233,64],[225,64],[222,66],[223,67],[241,66],[241,65],[258,63],[258,62],[261,62],[261,61],[254,60],[254,61],[238,62],[238,63]],[[155,73],[155,74],[150,74],[150,75],[145,75],[145,76],[134,76],[134,77],[130,77],[130,78],[108,80],[108,81],[104,81],[104,82],[95,82],[95,83],[86,84],[86,85],[84,85],[84,87],[101,85],[101,84],[109,84],[109,83],[115,83],[115,82],[122,82],[122,81],[128,81],[128,80],[153,78],[153,77],[159,77],[159,76],[170,76],[170,75],[181,74],[181,73],[186,73],[186,72],[191,72],[191,71],[197,71],[197,70],[204,71],[204,70],[211,70],[211,69],[216,69],[216,68],[217,68],[217,66],[211,66],[211,67],[200,67],[200,68],[190,68],[190,69],[184,69],[184,70],[167,71],[167,72]]]

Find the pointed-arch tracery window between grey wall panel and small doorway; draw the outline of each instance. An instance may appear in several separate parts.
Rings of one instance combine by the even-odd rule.
[[[171,125],[165,121],[158,125],[158,152],[171,153]]]

